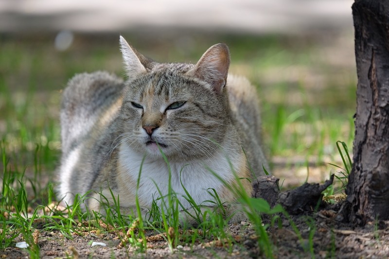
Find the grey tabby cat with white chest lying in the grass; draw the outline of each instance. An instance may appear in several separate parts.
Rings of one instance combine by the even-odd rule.
[[[230,185],[239,178],[250,196],[248,179],[267,167],[258,95],[246,78],[228,74],[227,45],[212,46],[195,65],[157,63],[122,36],[120,45],[125,82],[104,71],[82,73],[63,92],[63,202],[88,193],[82,206],[103,213],[101,194],[109,202],[119,196],[122,213],[130,213],[140,175],[138,200],[147,213],[168,193],[169,171],[182,209],[191,209],[183,186],[202,207],[215,206],[212,189],[222,203],[236,203],[215,174]],[[242,220],[233,210],[230,222]]]

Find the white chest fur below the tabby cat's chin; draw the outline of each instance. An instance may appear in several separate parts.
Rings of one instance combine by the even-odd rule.
[[[170,167],[171,190],[177,194],[181,204],[186,208],[191,207],[184,198],[186,196],[183,189],[184,186],[197,205],[209,206],[211,204],[205,201],[214,200],[209,193],[209,191],[213,193],[211,188],[216,190],[218,194],[224,189],[223,183],[217,179],[214,173],[218,174],[226,182],[230,182],[235,177],[231,166],[235,172],[240,168],[240,157],[238,155],[234,155],[234,157],[228,158],[223,152],[219,152],[211,159],[170,162],[169,166],[162,157],[159,159],[145,158],[142,164],[143,156],[122,143],[119,153],[119,164],[122,167],[120,171],[124,174],[124,177],[122,177],[122,181],[124,181],[120,185],[127,188],[127,192],[134,194],[136,192],[136,190],[133,190],[134,181],[137,181],[141,171],[138,189],[139,202],[142,206],[151,207],[153,199],[160,197],[160,194],[162,196],[167,195],[169,192]],[[229,161],[229,159],[231,160]],[[132,204],[132,199],[126,199],[126,197],[121,197],[120,199],[121,206],[134,205]]]

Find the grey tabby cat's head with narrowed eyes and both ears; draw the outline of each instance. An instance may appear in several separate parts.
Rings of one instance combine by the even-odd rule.
[[[212,157],[231,126],[226,89],[230,52],[209,48],[197,64],[157,63],[121,36],[128,77],[122,106],[122,141],[150,157]]]

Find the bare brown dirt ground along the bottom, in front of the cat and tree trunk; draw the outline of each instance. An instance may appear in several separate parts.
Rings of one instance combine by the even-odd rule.
[[[335,220],[341,203],[325,205],[318,212],[306,212],[292,216],[292,222],[302,239],[293,230],[290,221],[281,217],[282,226],[269,227],[268,233],[274,244],[275,258],[385,258],[389,255],[389,222],[376,222],[365,227],[344,224]],[[265,223],[269,223],[264,219]],[[96,230],[74,234],[64,238],[59,232],[42,231],[38,245],[40,257],[51,258],[260,258],[257,239],[249,222],[230,224],[227,233],[233,237],[232,244],[223,240],[194,242],[177,246],[173,252],[161,234],[146,232],[147,250],[139,253],[133,247],[120,246],[114,232],[99,233]],[[314,233],[313,238],[310,235]],[[21,240],[20,240],[21,241]],[[106,246],[91,246],[91,242],[104,242]],[[309,251],[313,242],[313,251]],[[24,249],[7,248],[0,251],[1,258],[28,258]]]

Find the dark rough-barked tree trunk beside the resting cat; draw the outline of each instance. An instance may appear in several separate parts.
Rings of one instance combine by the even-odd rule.
[[[355,0],[358,75],[349,220],[389,219],[389,0]]]

